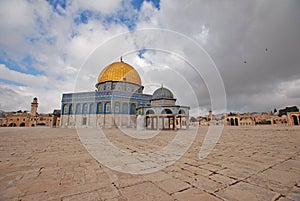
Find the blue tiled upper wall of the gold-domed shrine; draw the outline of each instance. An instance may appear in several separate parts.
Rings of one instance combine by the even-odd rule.
[[[137,107],[149,106],[152,95],[107,91],[68,93],[62,96],[62,115],[136,114]]]

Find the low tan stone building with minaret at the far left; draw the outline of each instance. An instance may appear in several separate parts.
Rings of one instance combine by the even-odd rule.
[[[56,127],[60,121],[60,111],[56,110],[53,114],[39,114],[38,99],[35,97],[31,103],[30,113],[27,111],[18,112],[1,112],[1,127],[35,127],[35,126],[51,126]]]

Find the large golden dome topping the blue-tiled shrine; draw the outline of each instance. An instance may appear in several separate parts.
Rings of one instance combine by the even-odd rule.
[[[138,72],[122,60],[114,62],[102,70],[98,77],[98,84],[107,81],[125,81],[142,85]]]

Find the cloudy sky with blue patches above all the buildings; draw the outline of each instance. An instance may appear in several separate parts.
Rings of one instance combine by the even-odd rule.
[[[227,111],[300,106],[298,0],[6,0],[0,27],[0,110],[52,112],[121,55],[194,115],[220,88]]]

